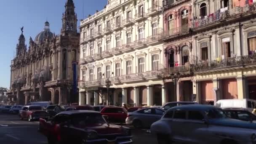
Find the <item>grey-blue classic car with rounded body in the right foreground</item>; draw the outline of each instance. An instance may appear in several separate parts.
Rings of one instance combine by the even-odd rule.
[[[256,123],[228,118],[211,105],[182,105],[168,109],[151,125],[158,144],[256,144]]]

